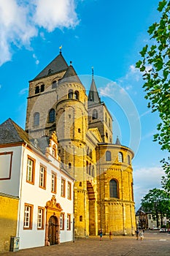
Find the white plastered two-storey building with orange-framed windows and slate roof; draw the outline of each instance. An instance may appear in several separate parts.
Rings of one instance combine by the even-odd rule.
[[[55,132],[32,140],[10,118],[0,125],[0,192],[19,197],[20,249],[74,240],[73,191]]]

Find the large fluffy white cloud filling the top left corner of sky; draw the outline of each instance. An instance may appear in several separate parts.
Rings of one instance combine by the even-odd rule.
[[[31,49],[39,28],[53,31],[78,23],[74,0],[0,0],[0,13],[0,66],[12,59],[12,45]]]

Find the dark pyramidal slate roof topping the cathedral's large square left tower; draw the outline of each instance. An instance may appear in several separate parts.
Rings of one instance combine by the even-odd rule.
[[[63,58],[63,55],[60,53],[55,59],[53,59],[53,61],[50,62],[50,64],[47,65],[47,67],[45,67],[45,69],[39,73],[39,75],[36,75],[34,80],[61,72],[66,70],[68,67],[69,66]]]

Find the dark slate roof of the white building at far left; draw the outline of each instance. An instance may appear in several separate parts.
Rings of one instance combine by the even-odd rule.
[[[11,118],[0,125],[0,144],[3,143],[29,143],[28,133],[25,132],[18,124],[15,124]]]

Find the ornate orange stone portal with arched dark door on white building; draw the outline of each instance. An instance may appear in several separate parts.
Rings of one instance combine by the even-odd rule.
[[[45,225],[45,245],[50,241],[50,245],[60,244],[60,216],[61,205],[56,203],[55,195],[46,203],[46,225]]]

